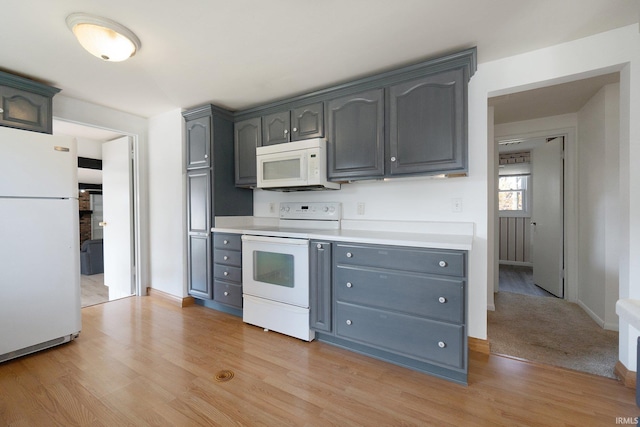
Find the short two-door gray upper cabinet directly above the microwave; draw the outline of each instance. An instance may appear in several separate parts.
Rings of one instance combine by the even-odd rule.
[[[322,102],[262,117],[262,145],[282,144],[323,135]]]

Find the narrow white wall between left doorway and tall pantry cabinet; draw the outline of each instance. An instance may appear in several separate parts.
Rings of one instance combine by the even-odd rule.
[[[179,297],[187,296],[183,126],[180,110],[149,119],[149,284]]]

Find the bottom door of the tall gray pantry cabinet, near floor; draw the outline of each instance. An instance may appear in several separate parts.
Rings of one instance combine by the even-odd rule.
[[[188,236],[187,264],[189,294],[200,298],[213,298],[211,240],[209,236]]]

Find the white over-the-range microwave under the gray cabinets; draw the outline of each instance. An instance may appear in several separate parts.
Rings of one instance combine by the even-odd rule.
[[[327,181],[327,142],[306,139],[256,148],[258,188],[277,191],[338,190]]]

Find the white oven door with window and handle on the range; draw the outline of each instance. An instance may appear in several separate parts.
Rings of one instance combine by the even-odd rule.
[[[309,240],[242,236],[242,293],[309,307]]]

